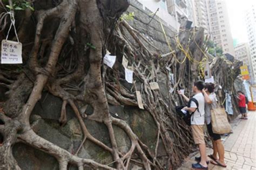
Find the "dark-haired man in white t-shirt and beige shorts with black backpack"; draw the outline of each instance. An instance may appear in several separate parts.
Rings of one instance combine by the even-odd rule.
[[[205,124],[205,98],[202,93],[204,89],[204,82],[194,82],[193,92],[196,95],[193,96],[193,100],[187,98],[181,91],[178,93],[183,96],[186,102],[190,103],[187,107],[182,110],[189,111],[191,114],[191,129],[194,142],[199,146],[200,151],[200,162],[192,164],[194,169],[208,169],[207,167],[207,156],[206,156],[206,145],[204,140],[204,124]],[[194,100],[196,99],[196,100]]]

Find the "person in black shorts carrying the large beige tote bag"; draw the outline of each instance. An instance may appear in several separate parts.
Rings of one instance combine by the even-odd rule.
[[[205,83],[205,89],[203,89],[202,91],[205,97],[205,122],[207,124],[207,131],[210,134],[213,146],[213,154],[208,155],[208,157],[212,159],[212,164],[221,167],[227,167],[224,161],[225,150],[224,145],[221,141],[220,134],[213,133],[212,131],[211,109],[216,109],[218,107],[217,98],[214,94],[214,84]]]

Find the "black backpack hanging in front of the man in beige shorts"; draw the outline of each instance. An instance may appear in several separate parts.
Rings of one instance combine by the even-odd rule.
[[[197,109],[194,112],[196,112],[197,110],[199,111],[199,109],[198,109],[199,104],[198,104],[198,101],[196,100],[196,98],[190,98],[190,100],[187,103],[188,108],[190,108],[191,102],[194,102],[197,105]],[[184,107],[185,107],[184,105],[180,105],[180,106],[176,107],[176,112],[183,119],[183,121],[188,126],[190,126],[191,125],[191,117],[194,115],[194,112],[190,113],[189,111],[186,111],[184,113],[183,111],[181,111],[181,109],[183,109]],[[193,117],[192,117],[192,119],[193,119]]]

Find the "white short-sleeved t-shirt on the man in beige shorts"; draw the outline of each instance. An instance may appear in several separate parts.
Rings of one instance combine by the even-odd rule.
[[[198,93],[193,96],[198,101],[198,109],[191,116],[191,125],[204,125],[205,124],[205,97],[203,93]],[[191,108],[197,108],[196,103],[193,101],[190,105]]]

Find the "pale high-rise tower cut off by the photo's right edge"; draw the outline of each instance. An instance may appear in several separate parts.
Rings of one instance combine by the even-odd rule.
[[[253,75],[256,77],[256,6],[252,5],[250,9],[246,11],[245,22],[247,37],[249,41],[249,48],[252,60]]]

